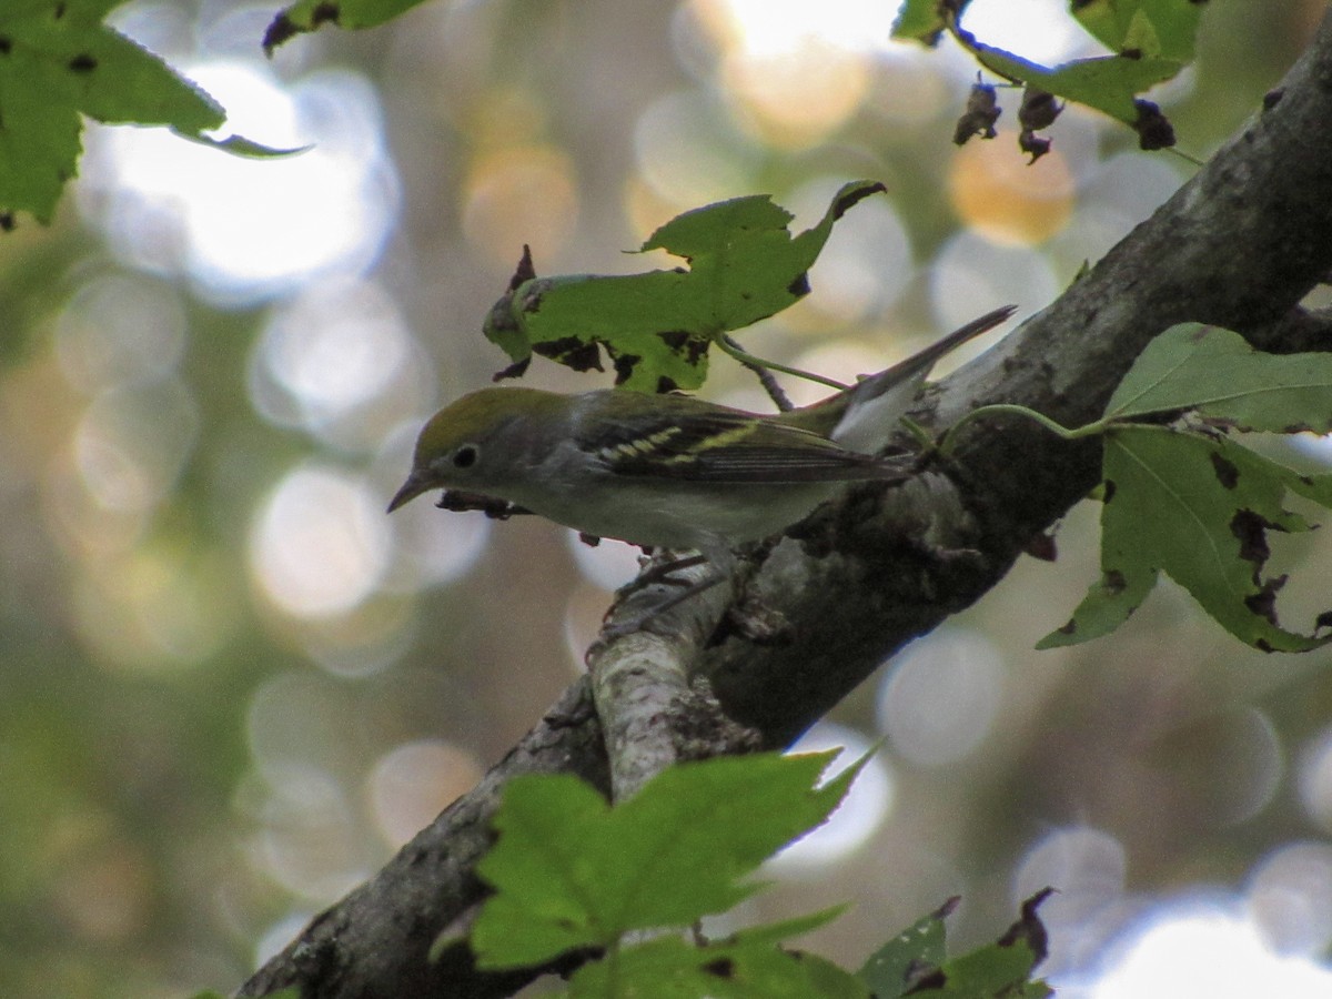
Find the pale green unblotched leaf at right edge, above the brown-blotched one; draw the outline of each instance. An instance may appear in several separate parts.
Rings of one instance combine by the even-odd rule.
[[[1244,430],[1332,430],[1332,354],[1267,354],[1239,333],[1184,322],[1156,337],[1106,406],[1106,418],[1196,409]]]

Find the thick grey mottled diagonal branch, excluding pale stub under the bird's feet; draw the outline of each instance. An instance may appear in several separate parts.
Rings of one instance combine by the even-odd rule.
[[[1018,402],[1066,425],[1099,416],[1160,330],[1185,320],[1311,349],[1287,321],[1332,272],[1332,17],[1265,111],[1151,220],[1018,336],[948,378],[916,416],[947,425],[987,402]],[[785,615],[781,642],[733,630],[703,657],[727,711],[787,743],[879,663],[975,602],[1027,542],[1098,478],[1095,442],[1064,445],[1010,418],[970,429],[955,460],[900,490],[851,490],[771,549],[751,595]],[[911,521],[934,537],[903,533]],[[742,629],[743,630],[743,629]],[[473,870],[496,793],[530,770],[582,774],[609,790],[601,731],[579,683],[481,787],[454,803],[373,880],[316,919],[246,983],[301,983],[306,999],[497,996],[465,947],[426,950],[477,904]]]

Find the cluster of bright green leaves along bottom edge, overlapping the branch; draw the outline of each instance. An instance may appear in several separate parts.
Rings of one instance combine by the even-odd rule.
[[[496,888],[472,931],[478,966],[542,964],[581,950],[593,959],[566,994],[587,999],[1046,995],[1030,980],[1044,956],[1035,914],[1043,895],[998,943],[952,960],[950,904],[891,939],[859,974],[787,944],[842,907],[725,939],[679,932],[749,898],[761,884],[742,879],[836,807],[864,761],[817,786],[835,753],[685,763],[615,807],[569,775],[513,781],[496,817],[500,839],[478,868]]]

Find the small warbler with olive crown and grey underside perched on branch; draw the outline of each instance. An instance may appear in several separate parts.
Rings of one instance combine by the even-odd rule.
[[[721,573],[733,546],[797,523],[840,484],[906,478],[875,452],[934,362],[1015,308],[986,313],[821,402],[771,416],[689,396],[482,389],[425,425],[389,511],[432,489],[464,490],[583,534],[697,550]]]

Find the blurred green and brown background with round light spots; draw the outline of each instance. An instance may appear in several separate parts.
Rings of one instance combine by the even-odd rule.
[[[1255,113],[1323,12],[1211,5],[1199,63],[1152,95],[1181,148]],[[0,240],[5,996],[229,991],[578,673],[633,551],[382,513],[424,417],[503,366],[480,328],[523,242],[539,273],[645,269],[621,250],[679,210],[770,192],[803,228],[882,178],[814,293],[745,337],[848,376],[1039,309],[1191,169],[1078,109],[1028,168],[1015,97],[998,141],[954,147],[975,68],[890,43],[892,4],[436,0],[269,63],[274,13],[136,0],[112,23],[237,131],[312,152],[91,128],[57,222]],[[1054,1],[976,0],[967,27],[1088,49]],[[723,361],[709,394],[763,405]],[[966,943],[1050,883],[1063,995],[1329,995],[1328,654],[1251,653],[1168,586],[1108,639],[1034,653],[1095,575],[1095,517],[811,733],[883,747],[753,915],[854,899],[811,946],[856,966],[948,895]],[[1307,627],[1332,550],[1279,554]]]

